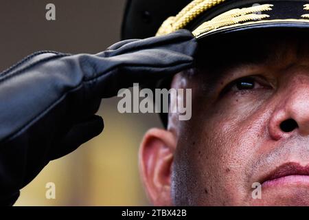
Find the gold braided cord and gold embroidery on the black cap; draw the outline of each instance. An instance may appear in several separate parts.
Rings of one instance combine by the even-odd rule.
[[[192,1],[175,17],[169,17],[166,21],[164,21],[161,28],[159,28],[157,32],[157,36],[170,34],[176,30],[185,28],[191,21],[194,21],[196,17],[224,1],[226,0]],[[294,3],[295,2],[296,1],[294,1]],[[282,1],[282,3],[284,3],[284,1]],[[293,3],[293,1],[290,1],[290,3]],[[261,5],[253,4],[252,6],[249,5],[247,8],[234,8],[228,10],[227,12],[223,12],[209,21],[205,21],[199,25],[198,28],[192,32],[192,34],[196,36],[196,38],[199,38],[205,34],[209,34],[210,32],[216,32],[216,30],[259,23],[307,23],[308,25],[309,14],[303,14],[301,17],[297,17],[297,12],[295,12],[296,17],[293,18],[284,17],[284,19],[268,19],[270,16],[264,13],[267,11],[272,11],[273,6],[274,5],[270,3]],[[302,7],[301,10],[304,10],[304,13],[309,10],[309,4],[301,4],[299,6]]]

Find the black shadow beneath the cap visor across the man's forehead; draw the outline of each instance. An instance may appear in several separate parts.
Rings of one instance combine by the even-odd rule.
[[[202,89],[206,92],[211,91],[236,68],[281,62],[290,48],[294,48],[298,57],[308,57],[308,39],[309,34],[306,33],[276,32],[269,35],[234,35],[229,39],[218,37],[214,41],[204,41],[200,43],[196,54],[194,72],[207,73],[203,76]]]

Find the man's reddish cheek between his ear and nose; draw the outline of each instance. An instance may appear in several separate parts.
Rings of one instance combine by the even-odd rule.
[[[185,164],[180,173],[190,183],[190,202],[243,205],[252,192],[252,164],[267,139],[270,105],[230,98],[198,106],[181,126],[176,153],[179,164]]]

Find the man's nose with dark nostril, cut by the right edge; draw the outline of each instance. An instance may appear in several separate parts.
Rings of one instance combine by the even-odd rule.
[[[288,84],[268,124],[275,140],[295,133],[309,135],[309,78],[297,78]]]

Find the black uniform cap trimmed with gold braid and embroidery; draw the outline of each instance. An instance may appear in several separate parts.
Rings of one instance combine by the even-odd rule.
[[[122,39],[144,39],[181,28],[192,31],[199,41],[251,30],[308,31],[309,0],[128,0]],[[148,87],[169,88],[170,80]],[[161,114],[165,126],[167,118]]]

